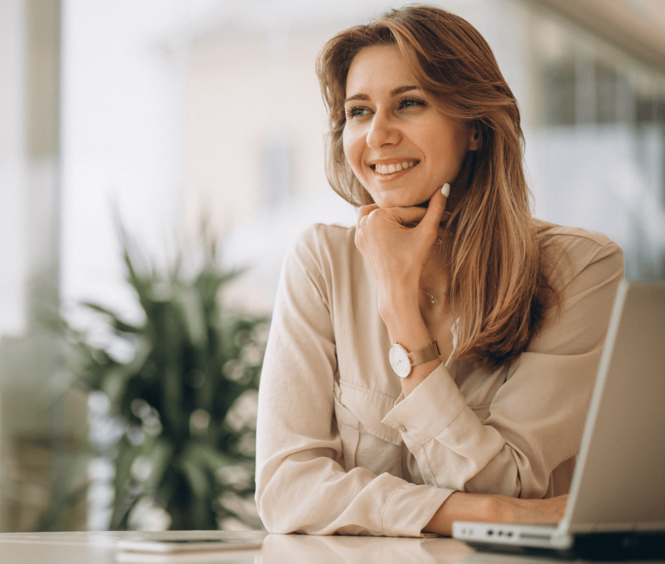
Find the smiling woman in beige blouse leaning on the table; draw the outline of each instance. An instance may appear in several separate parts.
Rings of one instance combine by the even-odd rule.
[[[557,521],[620,249],[529,212],[516,100],[465,20],[427,6],[319,55],[328,178],[355,229],[287,256],[259,393],[275,533],[450,535]]]

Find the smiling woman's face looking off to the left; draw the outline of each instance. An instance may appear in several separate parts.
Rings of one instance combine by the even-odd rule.
[[[344,154],[381,208],[428,201],[460,174],[474,127],[434,108],[392,45],[364,48],[346,78]]]

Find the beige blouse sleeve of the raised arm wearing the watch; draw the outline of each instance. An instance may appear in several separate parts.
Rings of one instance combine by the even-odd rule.
[[[474,411],[439,366],[383,419],[400,429],[429,484],[521,498],[567,492],[567,484],[557,491],[553,472],[576,458],[624,273],[622,252],[607,238],[569,240],[560,312],[504,370],[488,405]]]

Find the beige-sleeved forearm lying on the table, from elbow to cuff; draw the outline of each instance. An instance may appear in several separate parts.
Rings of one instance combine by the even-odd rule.
[[[450,491],[365,468],[344,472],[322,453],[259,467],[256,500],[272,533],[418,537]],[[298,458],[298,460],[295,460]]]

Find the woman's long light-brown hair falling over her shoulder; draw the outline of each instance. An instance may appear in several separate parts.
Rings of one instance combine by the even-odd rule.
[[[476,126],[481,143],[470,153],[467,186],[446,207],[455,356],[488,371],[506,366],[560,302],[539,254],[515,96],[481,34],[441,8],[391,10],[331,38],[316,62],[330,115],[326,174],[353,205],[372,203],[372,196],[344,157],[346,75],[353,57],[371,45],[394,45],[439,110]]]

